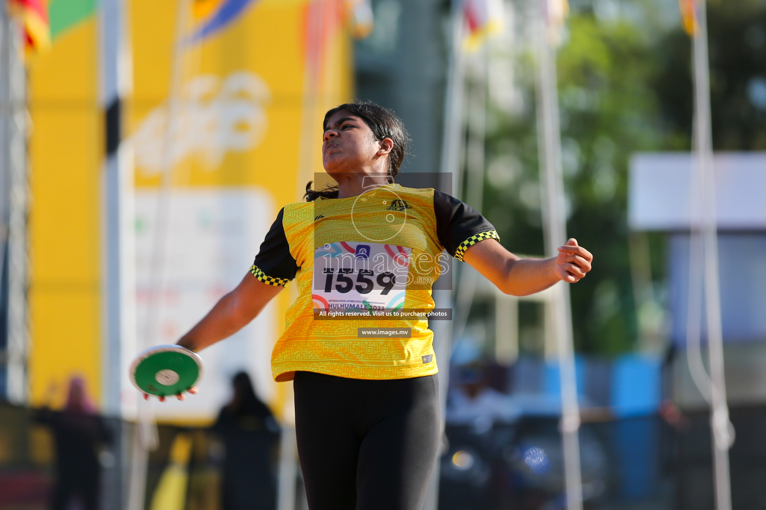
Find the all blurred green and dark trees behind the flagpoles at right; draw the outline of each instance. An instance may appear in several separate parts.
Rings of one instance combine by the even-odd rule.
[[[659,234],[646,252],[630,252],[628,163],[637,151],[690,149],[691,43],[652,0],[613,0],[610,16],[601,4],[573,2],[558,89],[568,233],[595,255],[594,270],[571,289],[575,346],[618,354],[637,339],[630,256],[650,256],[656,281],[665,261]],[[766,2],[710,2],[709,25],[715,149],[764,149]],[[493,110],[484,213],[509,249],[542,254],[534,49],[515,57],[521,106]]]

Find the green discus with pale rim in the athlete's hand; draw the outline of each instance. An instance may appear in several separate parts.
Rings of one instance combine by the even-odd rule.
[[[139,354],[130,380],[139,391],[168,397],[188,391],[202,373],[202,359],[182,346],[156,346]]]

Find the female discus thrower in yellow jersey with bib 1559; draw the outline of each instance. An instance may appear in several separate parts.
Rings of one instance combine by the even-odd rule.
[[[337,187],[306,186],[305,203],[280,210],[250,273],[178,345],[231,336],[296,280],[271,362],[276,381],[293,381],[309,508],[420,509],[440,414],[433,333],[417,313],[434,308],[444,250],[517,296],[580,280],[593,257],[569,239],[554,258],[519,258],[460,200],[394,184],[408,134],[388,109],[341,105],[322,127]]]

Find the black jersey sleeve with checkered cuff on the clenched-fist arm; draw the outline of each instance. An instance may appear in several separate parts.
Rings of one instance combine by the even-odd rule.
[[[466,249],[483,239],[500,239],[484,216],[447,193],[434,191],[434,212],[439,242],[457,260],[462,261]]]

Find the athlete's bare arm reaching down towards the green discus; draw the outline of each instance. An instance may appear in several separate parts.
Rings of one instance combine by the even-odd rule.
[[[245,274],[233,291],[221,297],[212,310],[178,340],[178,345],[197,352],[228,338],[247,326],[282,289],[264,284],[253,274]]]

